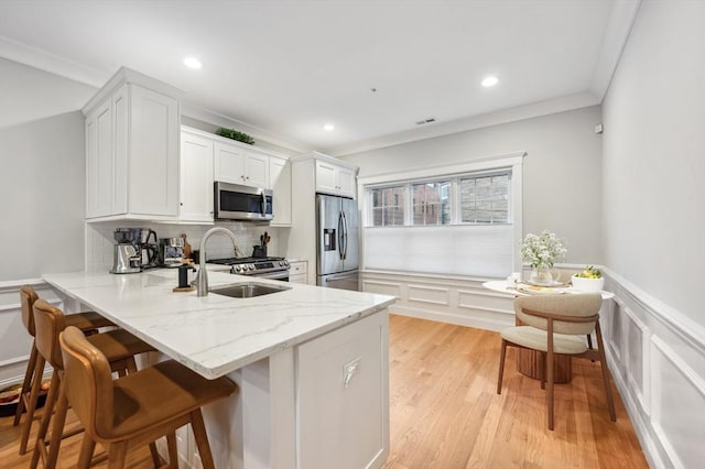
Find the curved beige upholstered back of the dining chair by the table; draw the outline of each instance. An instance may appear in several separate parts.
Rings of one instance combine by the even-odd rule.
[[[581,293],[563,295],[519,296],[514,299],[514,313],[517,318],[528,326],[546,330],[547,320],[532,316],[525,310],[539,312],[551,316],[571,317],[577,320],[595,317],[590,321],[568,321],[555,319],[553,331],[584,336],[595,330],[595,323],[599,308],[603,305],[603,296],[599,293]]]

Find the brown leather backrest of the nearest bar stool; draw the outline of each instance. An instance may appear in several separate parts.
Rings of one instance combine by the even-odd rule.
[[[113,418],[110,363],[77,327],[59,337],[66,397],[94,440],[109,437]]]

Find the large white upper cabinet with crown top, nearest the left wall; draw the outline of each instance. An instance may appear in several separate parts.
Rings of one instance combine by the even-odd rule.
[[[121,68],[84,107],[86,218],[177,216],[180,92]]]

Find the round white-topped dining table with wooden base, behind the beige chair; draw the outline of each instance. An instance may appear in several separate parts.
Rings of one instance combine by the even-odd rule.
[[[495,280],[482,283],[485,288],[494,292],[507,293],[517,296],[532,296],[532,295],[575,295],[581,293],[587,293],[572,286],[567,283],[555,282],[549,286],[532,285],[527,282],[514,282],[512,280]],[[596,292],[603,296],[603,301],[615,297],[615,294],[607,291]],[[517,326],[522,326],[523,323],[516,319]],[[587,338],[589,347],[592,347],[592,340]],[[541,380],[543,374],[543,353],[538,350],[530,350],[519,348],[517,352],[517,371],[529,378]],[[557,355],[554,360],[553,375],[554,382],[570,383],[573,379],[573,362],[570,356]]]

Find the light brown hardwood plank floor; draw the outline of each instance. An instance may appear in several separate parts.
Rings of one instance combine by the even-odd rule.
[[[575,360],[572,383],[556,385],[550,432],[544,391],[516,371],[514,349],[497,395],[499,346],[497,332],[390,317],[387,469],[648,467],[614,385],[617,422],[609,421],[597,363]],[[29,467],[19,439],[12,417],[0,418],[0,467]],[[80,436],[62,444],[61,468],[75,465],[79,446]],[[129,467],[151,468],[149,450],[133,454]]]

